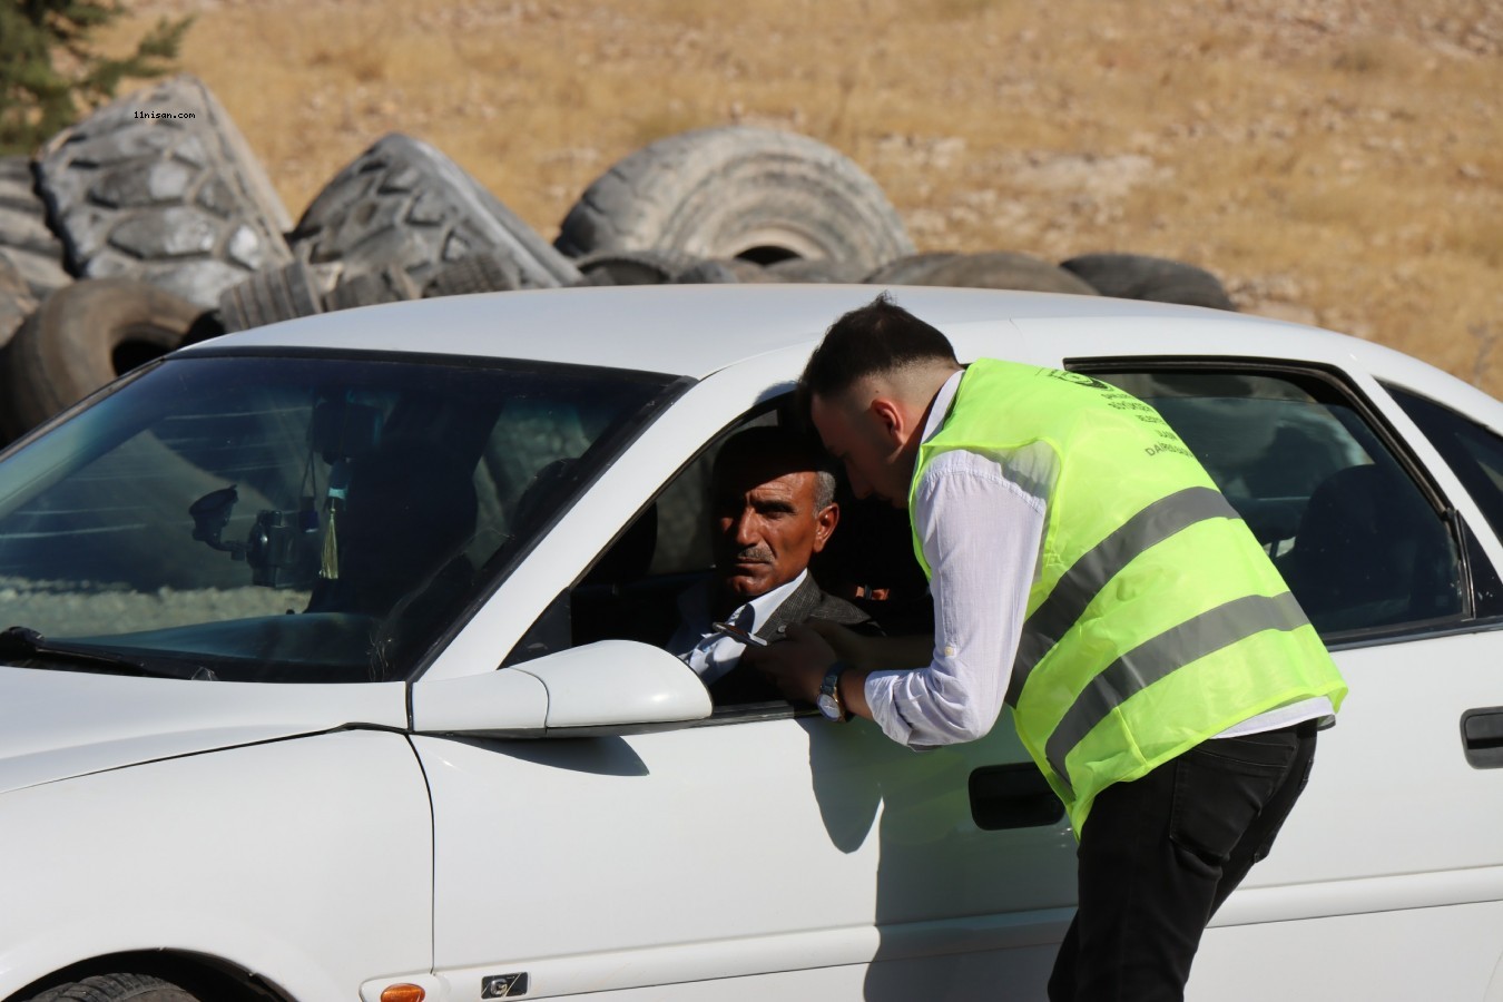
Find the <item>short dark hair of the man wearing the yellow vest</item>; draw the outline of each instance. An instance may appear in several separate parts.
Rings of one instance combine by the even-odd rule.
[[[830,324],[798,379],[801,410],[809,413],[815,395],[828,400],[860,379],[914,364],[960,365],[948,338],[884,291]]]

